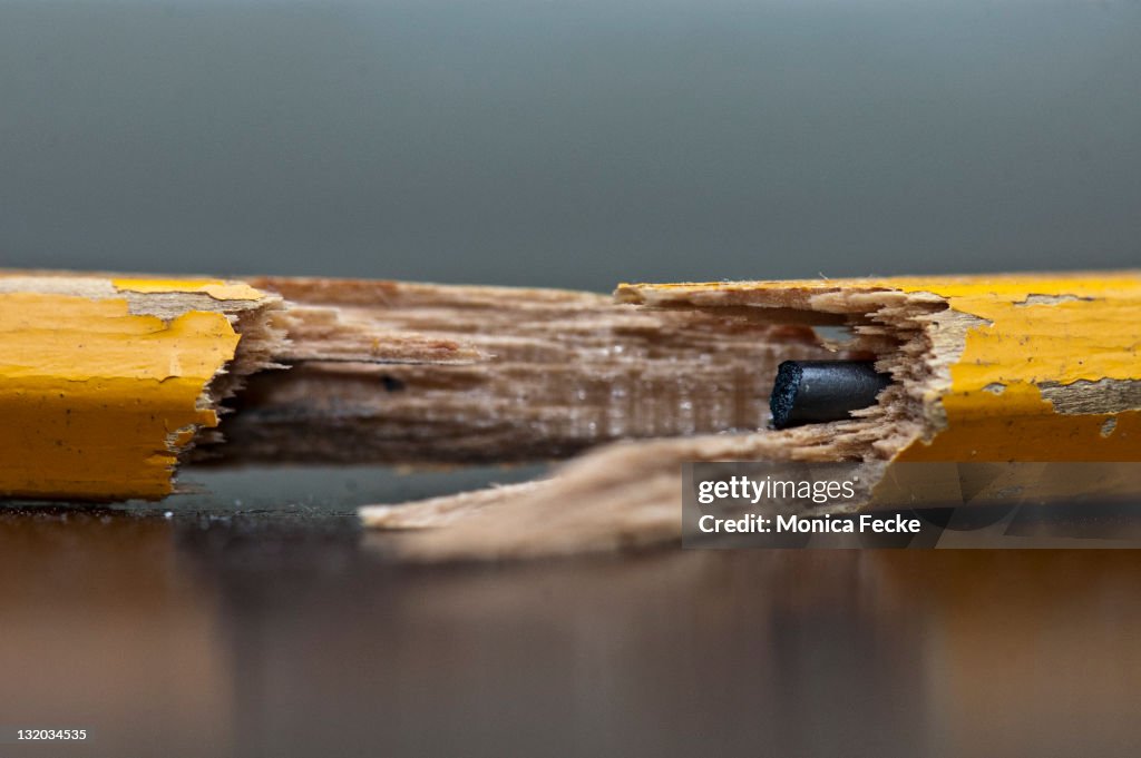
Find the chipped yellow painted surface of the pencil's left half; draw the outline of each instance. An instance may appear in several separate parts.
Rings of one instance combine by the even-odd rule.
[[[0,495],[159,498],[238,335],[224,313],[164,323],[126,300],[0,294]]]

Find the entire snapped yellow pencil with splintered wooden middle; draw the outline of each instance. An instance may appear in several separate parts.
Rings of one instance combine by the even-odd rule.
[[[853,460],[882,476],[905,462],[1139,460],[1139,345],[1141,274],[1128,271],[621,285],[614,298],[7,271],[0,494],[160,498],[205,448],[269,463],[578,455],[532,484],[362,516],[464,523],[420,540],[424,554],[654,543],[678,536],[685,462]],[[887,386],[850,417],[772,429],[785,360],[871,361]],[[526,528],[532,512],[543,529]]]

